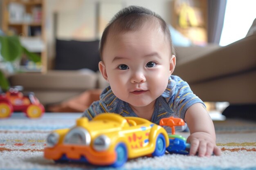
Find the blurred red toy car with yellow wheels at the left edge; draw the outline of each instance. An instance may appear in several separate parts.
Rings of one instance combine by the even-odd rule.
[[[24,112],[29,118],[39,118],[45,113],[34,93],[24,95],[22,89],[22,86],[14,86],[0,93],[0,119],[10,117],[13,111]]]

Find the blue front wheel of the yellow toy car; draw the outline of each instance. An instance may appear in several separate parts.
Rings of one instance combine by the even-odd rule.
[[[127,149],[126,145],[123,143],[119,143],[115,149],[116,154],[117,154],[117,159],[115,163],[113,163],[111,166],[112,167],[120,167],[126,163],[128,156],[127,156]]]

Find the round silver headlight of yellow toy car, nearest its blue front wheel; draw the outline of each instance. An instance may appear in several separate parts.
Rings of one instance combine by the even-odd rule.
[[[93,141],[93,148],[97,151],[107,150],[110,146],[110,139],[106,135],[100,135]]]

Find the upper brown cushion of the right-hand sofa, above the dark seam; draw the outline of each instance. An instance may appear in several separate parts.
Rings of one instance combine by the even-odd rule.
[[[256,35],[176,64],[174,75],[188,83],[203,82],[256,69]]]

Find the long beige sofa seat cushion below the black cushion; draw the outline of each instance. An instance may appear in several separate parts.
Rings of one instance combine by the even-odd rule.
[[[41,73],[19,73],[11,75],[12,86],[23,86],[25,90],[87,90],[97,85],[97,74],[93,71],[48,71]]]

